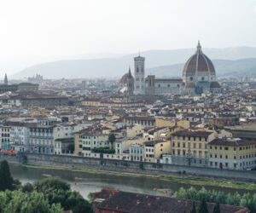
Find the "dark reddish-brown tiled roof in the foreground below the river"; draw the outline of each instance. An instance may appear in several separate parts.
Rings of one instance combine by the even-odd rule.
[[[132,213],[151,213],[151,212],[190,212],[195,202],[196,206],[200,205],[199,201],[189,199],[174,199],[168,197],[154,196],[140,193],[114,192],[105,200],[98,204],[98,210],[109,210],[114,212],[132,212]],[[97,198],[99,198],[97,196]],[[214,204],[207,203],[209,212],[212,212]],[[245,213],[246,208],[234,205],[219,204],[220,211],[225,213]]]

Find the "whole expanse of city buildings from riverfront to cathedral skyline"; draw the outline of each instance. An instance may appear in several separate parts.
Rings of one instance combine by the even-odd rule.
[[[134,77],[129,68],[120,80],[36,75],[9,84],[5,76],[2,152],[255,168],[255,84],[218,78],[200,43],[183,78],[146,76],[145,66],[145,57],[135,57]]]

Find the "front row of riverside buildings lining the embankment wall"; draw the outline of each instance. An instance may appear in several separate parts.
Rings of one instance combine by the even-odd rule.
[[[154,118],[154,125],[148,125],[128,124],[125,118],[103,123],[92,119],[84,124],[63,122],[56,117],[13,118],[0,131],[3,151],[74,154],[230,170],[256,167],[256,141],[232,137],[225,130],[193,130],[190,121],[183,119],[158,117]],[[116,138],[112,143],[110,134]]]

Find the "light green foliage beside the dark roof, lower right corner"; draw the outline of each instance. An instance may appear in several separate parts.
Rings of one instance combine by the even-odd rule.
[[[205,199],[210,203],[237,205],[247,207],[250,212],[256,212],[256,193],[231,194],[215,190],[207,190],[204,187],[200,190],[196,190],[195,187],[190,187],[189,189],[181,187],[173,194],[173,198],[192,200]]]

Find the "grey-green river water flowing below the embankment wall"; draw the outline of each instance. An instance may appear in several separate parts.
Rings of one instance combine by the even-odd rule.
[[[79,191],[86,199],[89,193],[101,191],[104,187],[111,187],[132,193],[147,193],[152,195],[170,196],[179,187],[191,187],[191,185],[180,184],[172,181],[163,181],[156,178],[114,176],[112,174],[92,174],[90,172],[50,170],[42,168],[31,168],[22,165],[10,164],[12,176],[22,183],[38,181],[46,176],[59,176],[68,181],[73,190]],[[193,186],[201,188],[203,186]],[[221,190],[226,193],[235,193],[237,190],[231,188],[206,187],[207,189]],[[239,190],[243,193],[245,191]]]

